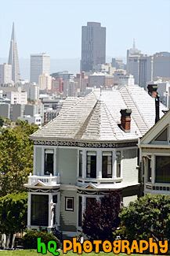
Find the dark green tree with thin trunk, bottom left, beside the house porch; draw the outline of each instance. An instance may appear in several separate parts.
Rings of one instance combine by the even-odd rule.
[[[12,193],[0,198],[0,232],[10,235],[10,246],[13,234],[24,231],[27,227],[27,193]]]

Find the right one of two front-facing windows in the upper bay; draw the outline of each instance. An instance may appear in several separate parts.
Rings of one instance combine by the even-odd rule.
[[[112,152],[102,153],[102,177],[112,178]]]

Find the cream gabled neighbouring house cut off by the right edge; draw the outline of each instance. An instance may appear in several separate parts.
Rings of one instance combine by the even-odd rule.
[[[144,194],[170,195],[170,110],[139,140]]]

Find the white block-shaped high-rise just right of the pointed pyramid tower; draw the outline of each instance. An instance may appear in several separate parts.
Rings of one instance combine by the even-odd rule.
[[[50,57],[48,54],[31,54],[30,82],[38,83],[42,74],[49,75]]]

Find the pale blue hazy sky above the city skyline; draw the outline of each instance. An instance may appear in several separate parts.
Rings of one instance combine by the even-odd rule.
[[[20,58],[46,52],[81,57],[81,26],[107,28],[107,56],[132,47],[143,54],[170,51],[170,0],[0,0],[0,57],[8,57],[13,21]]]

